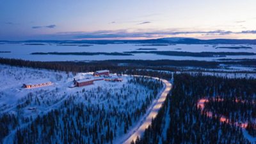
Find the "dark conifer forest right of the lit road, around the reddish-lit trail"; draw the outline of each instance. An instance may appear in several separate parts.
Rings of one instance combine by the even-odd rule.
[[[250,120],[255,115],[255,79],[175,74],[173,89],[143,138],[132,143],[249,143],[241,127],[220,122],[220,115],[237,120]],[[198,108],[198,99],[222,97],[209,101],[205,110]],[[239,99],[234,103],[234,99]],[[255,136],[255,124],[249,122],[248,132]]]

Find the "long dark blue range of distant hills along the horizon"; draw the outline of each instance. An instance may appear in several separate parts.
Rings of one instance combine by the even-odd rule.
[[[237,40],[237,39],[212,39],[200,40],[196,38],[160,38],[152,40],[28,40],[28,41],[0,41],[1,43],[89,43],[89,44],[122,44],[122,43],[161,43],[161,44],[250,44],[256,45],[256,40]]]

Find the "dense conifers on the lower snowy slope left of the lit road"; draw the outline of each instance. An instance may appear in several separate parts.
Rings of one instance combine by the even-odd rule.
[[[150,94],[141,99],[140,94],[147,92],[130,85],[122,87],[120,92],[115,90],[113,94],[99,87],[82,91],[84,99],[81,99],[81,94],[72,96],[60,108],[38,116],[26,128],[18,129],[13,143],[113,143],[140,119],[162,86],[161,82],[145,78],[133,78],[129,83],[147,87]],[[90,104],[87,102],[93,101],[90,97],[111,103]],[[116,99],[118,104],[111,99]]]

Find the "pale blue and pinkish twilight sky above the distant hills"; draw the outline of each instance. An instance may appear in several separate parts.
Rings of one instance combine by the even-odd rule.
[[[0,40],[256,39],[255,0],[0,0]]]

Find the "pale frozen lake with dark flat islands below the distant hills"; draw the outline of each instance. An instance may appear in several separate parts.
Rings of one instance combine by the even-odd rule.
[[[230,49],[216,47],[252,47],[252,49]],[[137,50],[138,48],[156,48],[158,51],[179,51],[179,52],[254,52],[256,45],[167,45],[167,46],[143,46],[141,44],[109,44],[92,45],[90,47],[59,46],[46,43],[45,45],[25,45],[23,43],[0,45],[0,52],[10,51],[11,53],[0,53],[0,57],[24,59],[30,61],[91,61],[109,59],[172,59],[172,60],[198,60],[216,61],[218,59],[256,59],[256,55],[232,55],[227,57],[188,57],[168,56],[157,54],[134,54],[134,55],[31,55],[32,52],[129,52],[129,51],[150,51]],[[154,50],[156,51],[156,50]]]

